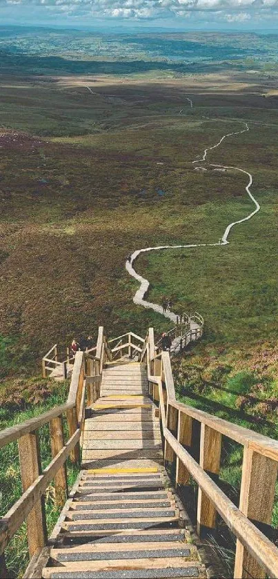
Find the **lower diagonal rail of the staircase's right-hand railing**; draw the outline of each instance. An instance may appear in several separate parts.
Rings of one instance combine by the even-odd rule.
[[[206,493],[214,504],[221,518],[226,522],[229,529],[250,551],[251,555],[264,567],[271,578],[278,577],[278,549],[255,527],[248,518],[237,509],[235,504],[224,494],[210,476],[203,471],[199,464],[183,449],[175,437],[164,429],[166,440],[173,446],[179,459],[186,465],[188,471],[195,479],[201,490]]]

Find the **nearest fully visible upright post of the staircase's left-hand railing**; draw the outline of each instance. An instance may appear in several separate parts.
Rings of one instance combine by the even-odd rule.
[[[22,489],[28,487],[41,475],[41,456],[39,452],[39,436],[37,431],[30,432],[19,438],[19,464]],[[47,544],[46,510],[44,497],[34,504],[27,518],[27,538],[30,557],[37,549]]]

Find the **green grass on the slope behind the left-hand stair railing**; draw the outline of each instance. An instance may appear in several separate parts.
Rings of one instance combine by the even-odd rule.
[[[56,389],[56,391],[54,389],[52,395],[50,395],[43,404],[37,406],[26,404],[27,409],[25,411],[17,410],[17,412],[14,412],[14,409],[8,409],[7,406],[6,408],[2,406],[0,410],[0,429],[20,424],[29,418],[39,416],[41,413],[51,409],[54,405],[62,404],[66,400],[66,393],[66,384],[60,382],[59,391],[58,389]],[[64,424],[64,431],[66,437],[68,434],[66,423]],[[39,446],[41,451],[41,464],[44,469],[52,460],[48,424],[39,429]],[[68,484],[69,487],[71,487],[77,478],[78,468],[72,465],[70,460],[67,460],[67,473]],[[14,502],[21,497],[22,493],[17,442],[12,442],[1,449],[0,487],[0,516],[4,516]],[[51,482],[48,489],[46,489],[45,498],[49,536],[54,524],[57,522],[60,512],[55,504],[53,482]],[[12,540],[10,540],[5,554],[9,576],[21,578],[29,562],[26,522],[21,525],[12,537]]]

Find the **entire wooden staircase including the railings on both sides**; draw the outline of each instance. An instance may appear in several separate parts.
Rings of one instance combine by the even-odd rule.
[[[47,432],[52,458],[43,468]],[[243,449],[239,507],[218,482],[226,438]],[[128,332],[108,341],[100,327],[97,345],[75,356],[68,400],[0,432],[0,449],[12,442],[22,494],[0,520],[1,579],[11,576],[5,551],[24,521],[23,579],[225,577],[206,542],[220,521],[237,538],[235,579],[278,578],[278,548],[264,534],[278,442],[178,402],[169,353],[155,348],[153,328],[145,340]],[[67,460],[79,469],[70,494]],[[192,480],[194,528],[179,498],[189,504]],[[49,537],[50,484],[60,516]]]

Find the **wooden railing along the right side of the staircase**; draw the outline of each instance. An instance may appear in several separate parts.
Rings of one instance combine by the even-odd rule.
[[[277,481],[278,442],[267,436],[221,420],[177,402],[168,352],[155,353],[150,328],[142,360],[148,369],[150,395],[159,405],[164,440],[164,460],[175,473],[175,484],[184,487],[194,479],[199,487],[197,532],[216,527],[217,513],[237,537],[234,576],[278,577],[278,549],[264,534],[271,525]],[[193,424],[200,426],[199,462],[195,460]],[[222,436],[244,447],[239,508],[219,488]]]

